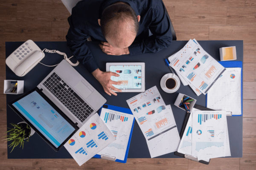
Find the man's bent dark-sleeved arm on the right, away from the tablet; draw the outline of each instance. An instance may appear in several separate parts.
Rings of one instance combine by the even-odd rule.
[[[148,27],[153,35],[141,42],[136,42],[129,47],[130,55],[158,52],[169,47],[172,42],[172,30],[166,8],[158,0],[154,8],[153,20]]]

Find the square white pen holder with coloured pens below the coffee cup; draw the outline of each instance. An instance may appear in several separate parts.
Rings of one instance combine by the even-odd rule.
[[[193,99],[192,97],[189,97],[189,96],[186,96],[185,94],[180,93],[177,96],[177,99],[176,99],[174,105],[177,106],[178,108],[183,109],[184,111],[192,112],[195,102],[196,102],[196,99]],[[185,104],[185,103],[187,103],[187,104]]]

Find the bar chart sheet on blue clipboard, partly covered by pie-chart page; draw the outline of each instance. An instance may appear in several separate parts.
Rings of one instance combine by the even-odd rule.
[[[134,115],[102,108],[100,118],[111,130],[116,137],[116,140],[108,145],[108,147],[101,150],[98,154],[114,156],[116,159],[124,161]]]

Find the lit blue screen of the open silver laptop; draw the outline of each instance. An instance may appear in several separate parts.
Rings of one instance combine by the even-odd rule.
[[[12,105],[56,148],[76,130],[37,91]]]

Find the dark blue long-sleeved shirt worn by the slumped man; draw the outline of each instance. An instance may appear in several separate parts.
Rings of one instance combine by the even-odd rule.
[[[88,37],[105,41],[98,19],[102,11],[116,2],[128,3],[140,15],[140,28],[134,42],[129,48],[130,55],[157,52],[169,47],[172,42],[172,31],[169,16],[162,0],[82,0],[72,9],[68,17],[70,24],[67,33],[67,45],[74,56],[82,61],[88,71],[95,71],[95,58],[86,45]],[[149,36],[149,31],[153,35]]]

